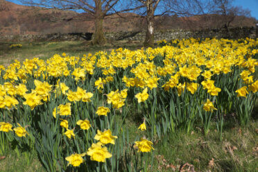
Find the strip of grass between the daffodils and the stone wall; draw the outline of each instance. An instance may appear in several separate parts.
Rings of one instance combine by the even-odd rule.
[[[10,49],[11,44],[22,44],[21,48]],[[23,61],[26,58],[41,58],[46,60],[54,54],[67,53],[71,56],[83,56],[87,53],[96,53],[97,51],[111,51],[118,48],[139,49],[140,42],[130,41],[109,41],[103,46],[92,46],[90,42],[83,41],[65,41],[65,42],[0,42],[0,65],[8,66],[14,60]]]

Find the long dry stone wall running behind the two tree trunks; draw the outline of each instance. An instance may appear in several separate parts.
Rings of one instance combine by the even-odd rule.
[[[74,40],[92,40],[93,33],[54,33],[49,35],[4,35],[0,36],[0,41],[74,41]],[[143,41],[145,32],[119,32],[119,33],[105,33],[107,40],[139,40]],[[256,29],[254,27],[245,28],[230,28],[230,31],[225,29],[212,29],[203,31],[155,31],[155,40],[174,40],[189,37],[205,38],[229,38],[239,39],[245,37],[257,37]]]

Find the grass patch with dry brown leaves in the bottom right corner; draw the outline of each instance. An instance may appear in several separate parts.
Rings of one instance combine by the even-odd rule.
[[[240,132],[241,131],[241,132]],[[160,154],[175,166],[188,162],[196,171],[257,171],[254,128],[231,128],[223,133],[223,141],[213,130],[207,137],[200,132],[171,136]],[[171,151],[167,151],[171,150]]]

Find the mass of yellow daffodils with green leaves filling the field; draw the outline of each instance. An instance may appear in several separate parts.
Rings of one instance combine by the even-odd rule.
[[[0,132],[37,150],[48,171],[116,171],[133,144],[128,116],[144,118],[135,122],[148,139],[135,137],[131,146],[141,153],[155,152],[153,139],[178,129],[199,125],[207,134],[212,119],[222,128],[229,112],[248,124],[257,43],[191,38],[0,65]]]

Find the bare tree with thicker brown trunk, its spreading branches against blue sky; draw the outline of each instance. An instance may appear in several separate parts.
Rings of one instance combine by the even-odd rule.
[[[123,8],[120,0],[20,0],[24,4],[58,10],[83,10],[94,17],[93,44],[105,44],[103,20],[116,12],[131,10]],[[119,6],[120,5],[120,6]],[[119,6],[119,7],[118,7]]]

